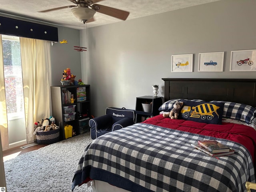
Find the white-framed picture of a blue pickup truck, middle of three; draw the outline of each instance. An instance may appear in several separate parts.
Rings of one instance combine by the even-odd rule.
[[[199,72],[223,72],[224,52],[199,53]]]

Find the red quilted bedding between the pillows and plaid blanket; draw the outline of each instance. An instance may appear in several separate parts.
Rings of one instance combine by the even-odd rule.
[[[256,159],[256,131],[254,128],[246,125],[233,123],[222,123],[222,125],[206,124],[188,120],[164,118],[161,114],[149,118],[143,123],[234,141],[248,149],[252,155],[253,162]]]

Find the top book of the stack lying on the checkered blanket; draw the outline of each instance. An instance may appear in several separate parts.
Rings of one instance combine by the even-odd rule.
[[[229,147],[216,140],[199,140],[198,145],[204,147],[211,153],[229,152]]]

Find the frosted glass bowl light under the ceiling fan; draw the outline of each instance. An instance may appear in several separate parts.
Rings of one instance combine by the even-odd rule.
[[[96,13],[95,10],[86,7],[72,8],[71,12],[76,18],[78,18],[83,23],[90,20]]]

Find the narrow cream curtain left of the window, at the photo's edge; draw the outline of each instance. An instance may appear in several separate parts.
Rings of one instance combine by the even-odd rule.
[[[2,140],[2,149],[9,148],[8,141],[8,121],[4,89],[4,62],[2,50],[2,36],[0,35],[0,132]]]

